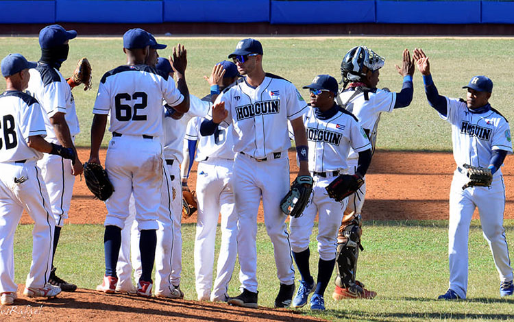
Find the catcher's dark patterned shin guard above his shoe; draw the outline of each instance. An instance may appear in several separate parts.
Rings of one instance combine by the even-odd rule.
[[[360,245],[362,234],[360,214],[355,216],[354,212],[345,212],[337,236],[336,286],[347,288],[355,284],[358,253],[363,249]]]

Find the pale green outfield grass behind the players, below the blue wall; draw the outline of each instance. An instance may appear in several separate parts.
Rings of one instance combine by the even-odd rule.
[[[80,34],[80,30],[78,30]],[[183,43],[188,50],[187,82],[191,93],[202,97],[208,93],[203,76],[209,75],[212,66],[227,59],[239,38],[162,38],[157,37],[168,49],[160,55],[169,55],[171,46]],[[432,75],[442,95],[464,97],[461,87],[474,75],[488,75],[494,83],[491,104],[513,119],[511,108],[511,71],[513,66],[514,38],[259,38],[265,51],[265,71],[290,79],[304,97],[308,92],[302,86],[309,84],[315,75],[328,73],[339,79],[339,66],[347,50],[356,45],[367,45],[382,57],[386,64],[380,71],[379,87],[400,91],[402,78],[395,64],[401,64],[402,49],[415,47],[425,50],[432,62]],[[77,38],[71,40],[69,60],[62,66],[65,77],[75,69],[75,62],[86,56],[93,64],[93,90],[84,92],[75,88],[77,114],[82,133],[77,145],[90,144],[91,110],[99,79],[106,71],[125,63],[119,38]],[[501,50],[491,50],[499,48]],[[0,57],[7,53],[21,52],[29,60],[40,57],[38,39],[0,38]],[[439,119],[435,110],[428,106],[419,72],[414,76],[414,99],[408,108],[382,114],[378,134],[378,148],[389,150],[437,150],[450,151],[450,125]],[[0,90],[5,88],[1,82]],[[110,137],[110,136],[108,136]],[[104,144],[107,139],[104,140]]]

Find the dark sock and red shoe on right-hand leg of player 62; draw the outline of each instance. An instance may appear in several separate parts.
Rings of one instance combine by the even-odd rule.
[[[141,230],[139,238],[139,252],[141,256],[141,277],[138,282],[137,294],[151,297],[151,271],[154,269],[156,259],[157,234],[156,230]]]

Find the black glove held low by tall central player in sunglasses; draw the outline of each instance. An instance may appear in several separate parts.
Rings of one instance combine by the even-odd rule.
[[[313,193],[313,177],[300,175],[291,184],[289,193],[280,201],[280,209],[284,214],[295,218],[304,214],[304,209]]]

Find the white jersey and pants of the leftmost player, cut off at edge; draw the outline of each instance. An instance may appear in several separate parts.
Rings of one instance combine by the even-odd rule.
[[[42,109],[34,97],[10,90],[0,95],[0,293],[14,292],[14,231],[23,209],[34,220],[32,264],[25,286],[47,284],[55,221],[36,161],[42,153],[27,146],[29,136],[47,136]]]

